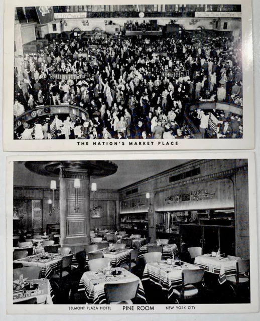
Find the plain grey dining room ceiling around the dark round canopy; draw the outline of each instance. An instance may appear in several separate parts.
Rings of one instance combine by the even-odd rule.
[[[137,155],[138,156],[138,155]],[[112,161],[118,166],[117,172],[109,177],[91,179],[97,183],[97,188],[118,190],[153,175],[169,170],[188,162],[189,159],[151,159],[137,161]],[[26,169],[25,162],[14,163],[14,185],[49,187],[51,177],[34,174]],[[59,185],[58,179],[56,179]]]

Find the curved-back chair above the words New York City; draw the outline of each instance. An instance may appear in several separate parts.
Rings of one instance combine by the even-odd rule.
[[[198,295],[199,290],[193,284],[203,281],[205,268],[196,270],[182,270],[182,285],[180,288],[174,288],[173,294],[177,296],[176,303],[183,300],[194,298]]]

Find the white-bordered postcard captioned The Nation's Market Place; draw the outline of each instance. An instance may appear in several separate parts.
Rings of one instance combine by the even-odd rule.
[[[254,148],[250,1],[37,2],[5,4],[5,151]]]

